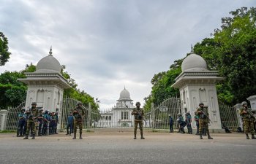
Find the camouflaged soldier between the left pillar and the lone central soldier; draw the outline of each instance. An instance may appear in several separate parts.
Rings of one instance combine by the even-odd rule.
[[[76,139],[76,135],[77,135],[77,130],[79,127],[79,133],[80,133],[80,139],[82,138],[82,133],[83,133],[83,118],[86,115],[85,109],[82,106],[82,103],[80,101],[78,101],[78,106],[75,107],[75,109],[73,110],[73,116],[75,117],[75,121],[74,121],[74,137],[73,139]]]

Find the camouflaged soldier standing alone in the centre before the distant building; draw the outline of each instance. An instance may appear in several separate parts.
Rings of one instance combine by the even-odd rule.
[[[136,102],[136,108],[132,110],[132,115],[135,115],[135,130],[134,130],[134,134],[135,137],[134,139],[136,139],[136,134],[137,134],[137,128],[138,125],[140,127],[140,139],[145,139],[143,137],[143,109],[140,109],[140,102]]]

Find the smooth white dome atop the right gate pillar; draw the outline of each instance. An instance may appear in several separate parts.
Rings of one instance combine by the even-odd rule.
[[[192,52],[181,64],[182,71],[208,71],[206,60]]]

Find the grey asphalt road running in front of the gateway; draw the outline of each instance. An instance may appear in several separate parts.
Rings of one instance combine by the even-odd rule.
[[[0,163],[256,163],[256,140],[241,133],[212,134],[213,140],[180,133],[84,133],[72,140],[64,133],[23,140],[0,134]]]

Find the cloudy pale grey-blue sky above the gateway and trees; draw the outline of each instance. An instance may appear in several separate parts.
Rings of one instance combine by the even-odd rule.
[[[151,93],[154,74],[167,71],[220,28],[221,18],[255,0],[0,0],[0,31],[10,60],[4,71],[53,56],[94,98],[115,106],[124,86],[134,102]]]

